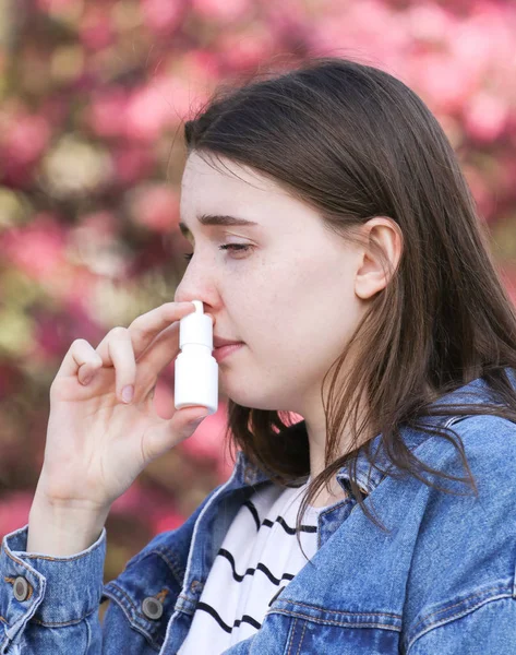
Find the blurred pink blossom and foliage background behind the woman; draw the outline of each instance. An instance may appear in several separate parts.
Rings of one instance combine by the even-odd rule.
[[[511,0],[0,0],[0,537],[27,521],[71,343],[173,299],[182,122],[219,82],[311,53],[401,79],[452,141],[514,296],[515,39]],[[163,416],[172,384],[173,367]],[[115,503],[106,579],[227,479],[225,416],[220,398]]]

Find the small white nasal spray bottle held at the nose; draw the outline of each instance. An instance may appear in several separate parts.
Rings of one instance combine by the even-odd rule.
[[[179,347],[176,358],[173,406],[176,409],[202,405],[215,414],[218,408],[218,364],[213,357],[212,317],[204,313],[201,300],[195,311],[179,321]]]

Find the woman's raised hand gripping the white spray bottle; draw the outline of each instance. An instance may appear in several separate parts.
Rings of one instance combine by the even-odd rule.
[[[179,354],[179,320],[194,310],[192,302],[167,302],[113,327],[96,349],[82,338],[72,343],[50,388],[40,501],[105,513],[152,460],[195,431],[206,407],[164,419],[153,402],[159,373]],[[134,400],[127,404],[122,390],[130,385]]]

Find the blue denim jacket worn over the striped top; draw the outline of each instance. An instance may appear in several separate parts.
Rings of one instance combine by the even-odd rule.
[[[478,379],[436,403],[492,401],[489,394]],[[260,630],[226,654],[516,654],[516,425],[487,414],[423,420],[459,434],[478,497],[430,474],[422,473],[455,493],[415,476],[395,478],[359,456],[365,504],[373,503],[387,529],[351,497],[323,510],[314,557],[279,588]],[[288,429],[303,430],[304,421]],[[407,427],[401,436],[428,466],[467,476],[446,439]],[[373,441],[373,452],[377,445],[382,453],[381,436]],[[383,468],[385,462],[381,454]],[[337,479],[349,491],[347,467]],[[154,537],[105,585],[106,529],[89,548],[63,558],[26,552],[27,526],[8,534],[0,555],[0,653],[176,654],[232,517],[267,484],[240,452],[230,478],[182,526]],[[107,599],[100,624],[99,603]]]

